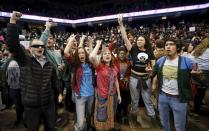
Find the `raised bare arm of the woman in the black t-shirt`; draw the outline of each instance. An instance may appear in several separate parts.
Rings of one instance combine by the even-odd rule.
[[[126,29],[125,29],[125,27],[123,25],[123,16],[121,14],[118,16],[118,24],[119,24],[119,28],[120,28],[120,32],[121,32],[122,38],[123,38],[123,40],[125,42],[125,46],[126,46],[127,50],[130,51],[131,48],[132,48],[132,44],[131,44],[131,42],[129,41],[129,39],[127,37]]]

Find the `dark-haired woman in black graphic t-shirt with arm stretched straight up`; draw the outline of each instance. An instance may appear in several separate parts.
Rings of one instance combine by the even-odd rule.
[[[147,114],[155,122],[156,114],[154,106],[151,102],[151,78],[145,71],[147,65],[153,66],[155,64],[155,57],[151,48],[149,40],[143,36],[139,35],[137,37],[136,44],[132,45],[128,40],[125,27],[123,25],[123,16],[119,15],[118,23],[121,31],[122,38],[125,42],[126,49],[129,51],[132,58],[131,76],[129,79],[129,89],[131,94],[131,113],[133,114],[133,119],[137,116],[137,121],[140,122],[139,113],[139,97],[140,94],[143,98]],[[142,121],[141,124],[143,125]]]

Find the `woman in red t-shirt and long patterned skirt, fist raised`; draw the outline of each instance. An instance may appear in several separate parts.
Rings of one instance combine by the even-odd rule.
[[[102,41],[97,40],[96,46],[90,53],[89,59],[96,69],[97,87],[96,87],[96,104],[94,122],[96,129],[105,130],[114,128],[114,116],[116,115],[117,104],[121,103],[119,83],[117,79],[118,69],[113,64],[111,52],[108,48],[104,48],[101,52],[100,61],[97,59],[97,53],[102,46]],[[107,105],[107,119],[99,119],[99,105]],[[100,122],[98,122],[100,121]]]

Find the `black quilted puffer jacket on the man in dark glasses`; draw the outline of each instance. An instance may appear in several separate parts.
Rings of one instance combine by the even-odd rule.
[[[54,101],[56,71],[50,62],[41,64],[20,46],[16,24],[7,25],[7,45],[20,65],[20,88],[25,107],[39,107]]]

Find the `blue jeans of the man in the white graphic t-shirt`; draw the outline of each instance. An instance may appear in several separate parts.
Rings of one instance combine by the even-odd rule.
[[[168,96],[164,92],[159,94],[160,121],[164,131],[170,131],[170,110],[173,112],[176,131],[185,131],[187,103],[180,102],[178,97]]]

